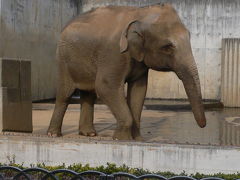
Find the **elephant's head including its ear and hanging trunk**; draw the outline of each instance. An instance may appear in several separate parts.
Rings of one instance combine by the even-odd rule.
[[[143,18],[129,22],[123,30],[121,53],[129,53],[133,59],[153,70],[174,71],[184,84],[198,125],[205,127],[200,81],[189,31],[170,5],[153,6],[145,11]]]

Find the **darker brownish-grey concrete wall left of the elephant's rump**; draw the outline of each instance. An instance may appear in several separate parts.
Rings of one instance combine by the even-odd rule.
[[[0,0],[0,57],[32,61],[34,100],[55,96],[56,42],[78,0]]]

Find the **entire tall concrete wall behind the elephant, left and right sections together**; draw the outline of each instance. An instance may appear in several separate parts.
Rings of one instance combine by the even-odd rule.
[[[192,33],[205,99],[219,100],[221,40],[240,36],[238,0],[0,0],[0,57],[32,61],[33,99],[55,96],[55,50],[62,27],[78,12],[114,5],[169,2]],[[186,98],[174,73],[151,72],[148,98]]]

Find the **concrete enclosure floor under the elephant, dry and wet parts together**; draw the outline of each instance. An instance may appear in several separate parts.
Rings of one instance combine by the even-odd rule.
[[[141,119],[145,142],[240,146],[240,108],[209,108],[207,126],[197,126],[190,106],[185,102],[146,101]],[[214,105],[216,107],[218,105]],[[34,134],[45,135],[54,104],[33,104]],[[71,104],[63,122],[63,137],[87,138],[78,135],[80,105]],[[94,125],[98,133],[92,139],[111,140],[116,120],[105,105],[95,106]]]

